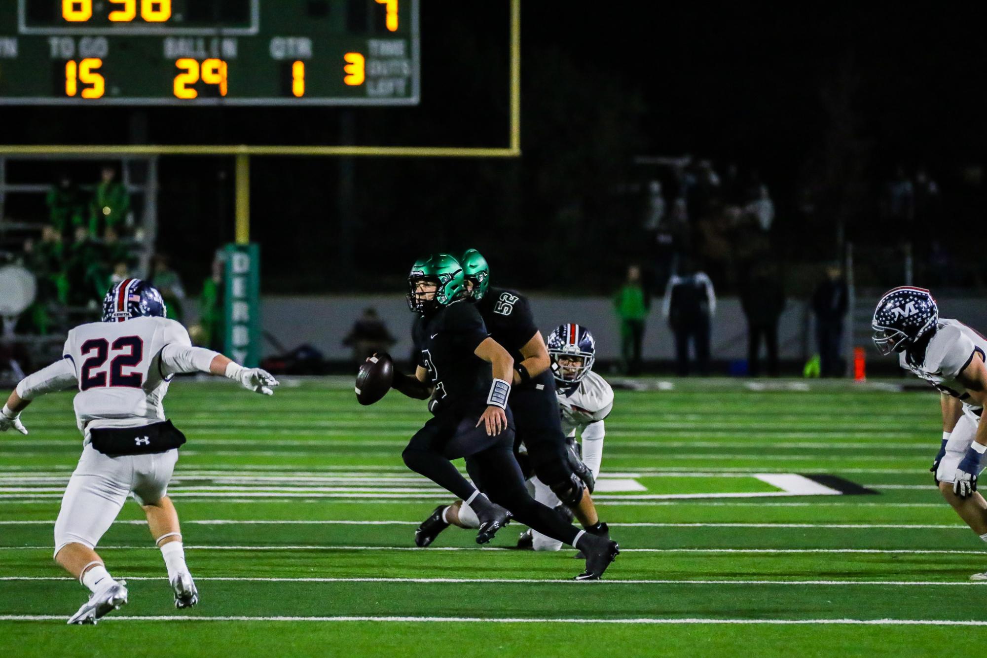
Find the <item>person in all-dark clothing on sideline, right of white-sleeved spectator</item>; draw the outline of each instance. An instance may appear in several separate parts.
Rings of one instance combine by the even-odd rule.
[[[761,337],[767,351],[768,374],[778,377],[778,320],[785,310],[785,288],[778,267],[759,262],[740,289],[740,308],[747,317],[747,374],[761,374]]]

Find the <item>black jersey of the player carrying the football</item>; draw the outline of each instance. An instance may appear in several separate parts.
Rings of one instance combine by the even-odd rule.
[[[427,382],[435,388],[429,411],[483,412],[493,371],[474,352],[489,335],[480,312],[467,302],[418,316],[412,329],[418,365],[428,371]]]

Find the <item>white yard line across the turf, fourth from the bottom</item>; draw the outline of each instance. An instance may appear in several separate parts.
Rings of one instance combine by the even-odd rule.
[[[0,521],[0,526],[52,526],[54,520]],[[114,523],[126,526],[146,526],[147,521],[126,520]],[[354,520],[257,520],[257,519],[201,519],[185,520],[187,526],[418,526],[418,521],[354,521]],[[837,530],[969,530],[963,524],[884,524],[884,523],[661,523],[629,522],[610,523],[614,528],[825,528]]]

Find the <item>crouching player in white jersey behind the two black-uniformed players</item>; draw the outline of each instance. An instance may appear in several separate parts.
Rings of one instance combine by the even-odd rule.
[[[573,444],[578,435],[581,441],[578,454],[595,482],[603,462],[603,437],[606,434],[603,419],[613,408],[613,389],[592,371],[596,341],[588,329],[575,324],[561,325],[549,334],[547,343],[556,377],[563,431]],[[537,476],[530,481],[535,488],[535,500],[549,507],[559,506],[558,496]],[[531,547],[535,550],[562,548],[561,542],[532,530],[521,535],[519,546],[526,546],[526,536],[531,538]]]

